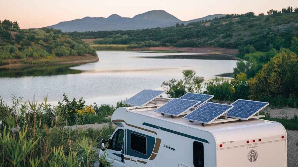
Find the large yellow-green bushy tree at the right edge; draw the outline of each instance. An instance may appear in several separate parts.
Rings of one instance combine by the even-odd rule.
[[[282,49],[258,74],[248,81],[251,99],[262,96],[298,96],[298,58],[294,52]]]

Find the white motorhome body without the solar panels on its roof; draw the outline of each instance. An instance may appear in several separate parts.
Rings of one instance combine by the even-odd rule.
[[[287,134],[278,122],[252,118],[202,126],[154,112],[160,106],[114,111],[111,121],[118,127],[105,154],[113,166],[287,166]]]

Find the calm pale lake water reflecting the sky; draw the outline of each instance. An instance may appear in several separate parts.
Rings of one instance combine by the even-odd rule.
[[[205,80],[233,72],[235,60],[190,60],[140,58],[175,54],[100,51],[100,61],[74,67],[56,66],[0,71],[0,96],[10,104],[11,94],[41,102],[62,100],[62,93],[72,99],[83,97],[87,104],[115,104],[147,89],[159,89],[164,80],[181,78],[185,69],[195,70]]]

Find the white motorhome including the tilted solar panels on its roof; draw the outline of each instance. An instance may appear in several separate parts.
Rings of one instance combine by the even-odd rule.
[[[113,166],[287,166],[285,128],[258,114],[268,104],[260,102],[263,107],[257,108],[259,103],[246,100],[231,105],[208,102],[213,96],[198,103],[180,102],[148,91],[128,99],[131,106],[117,108],[111,116],[117,128],[109,140],[102,141],[100,156]],[[171,113],[177,110],[181,113]],[[253,114],[245,117],[250,110]]]

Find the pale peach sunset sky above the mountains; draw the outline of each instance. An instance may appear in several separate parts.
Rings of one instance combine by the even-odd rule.
[[[21,28],[40,28],[77,18],[134,17],[165,10],[182,21],[212,14],[254,12],[298,7],[298,0],[0,0],[0,20],[17,21]]]

